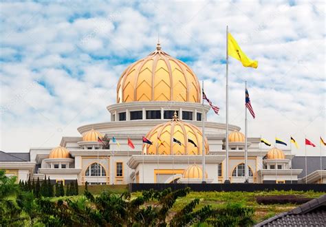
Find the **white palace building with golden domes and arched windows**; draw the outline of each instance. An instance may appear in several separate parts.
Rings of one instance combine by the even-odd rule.
[[[240,128],[228,127],[226,160],[226,125],[206,121],[210,106],[202,105],[197,76],[188,65],[163,52],[160,44],[122,72],[116,92],[116,103],[107,107],[110,122],[83,125],[78,128],[80,136],[65,136],[58,147],[30,149],[29,153],[0,151],[0,169],[16,175],[18,181],[43,180],[46,175],[56,182],[77,179],[81,185],[202,183],[203,174],[207,183],[245,181],[245,137]],[[142,136],[153,144],[143,144]],[[135,149],[128,146],[128,138]],[[309,164],[312,169],[306,174],[305,157],[276,147],[260,149],[259,143],[260,138],[248,138],[249,182],[296,184],[307,178],[308,183],[326,183],[319,157],[308,157],[309,163],[316,164]]]

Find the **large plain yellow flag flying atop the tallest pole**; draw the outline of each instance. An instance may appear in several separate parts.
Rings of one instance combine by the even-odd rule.
[[[228,55],[241,61],[244,67],[254,67],[255,69],[258,67],[258,61],[248,58],[230,33],[228,33]]]

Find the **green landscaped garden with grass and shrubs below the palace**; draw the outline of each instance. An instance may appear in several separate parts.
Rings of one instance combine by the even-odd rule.
[[[0,226],[252,226],[324,193],[129,193],[125,185],[20,182],[0,171]]]

